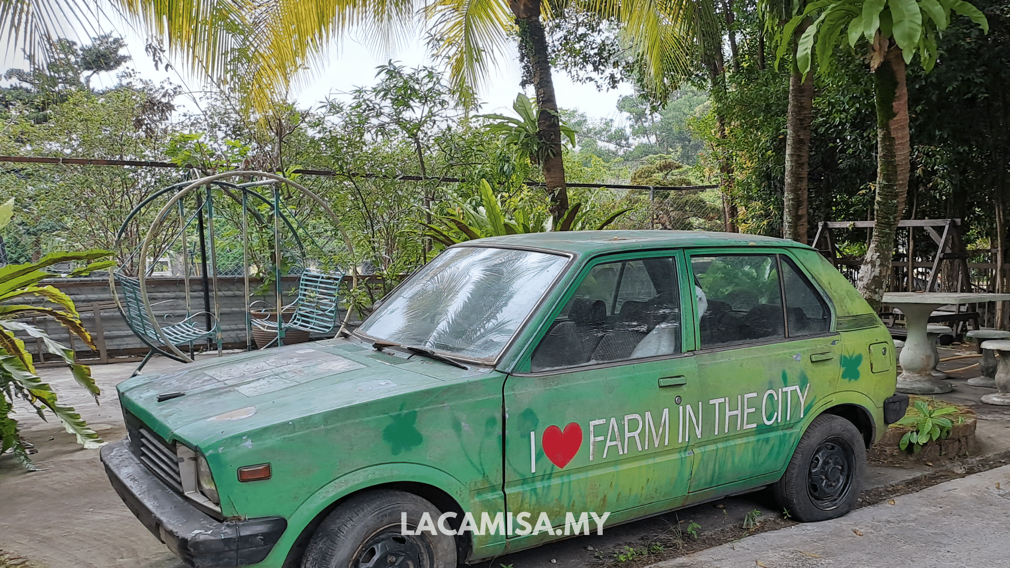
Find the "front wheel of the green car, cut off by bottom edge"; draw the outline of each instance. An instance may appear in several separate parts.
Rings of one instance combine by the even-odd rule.
[[[302,568],[456,568],[456,540],[440,532],[402,535],[401,513],[416,530],[421,515],[441,511],[417,495],[368,491],[339,504],[316,529]]]

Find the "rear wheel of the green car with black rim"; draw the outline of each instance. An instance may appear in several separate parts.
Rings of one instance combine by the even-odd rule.
[[[827,520],[855,508],[866,472],[860,431],[841,416],[821,414],[803,433],[772,492],[798,520]]]

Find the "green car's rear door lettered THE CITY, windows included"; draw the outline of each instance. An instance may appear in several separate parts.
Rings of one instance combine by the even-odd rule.
[[[778,472],[834,391],[841,346],[825,296],[778,251],[692,251],[702,415],[692,493]]]

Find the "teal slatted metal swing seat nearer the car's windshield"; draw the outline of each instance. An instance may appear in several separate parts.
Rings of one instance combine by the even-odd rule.
[[[287,309],[295,310],[291,320],[284,322],[284,328],[301,329],[312,334],[328,334],[336,328],[340,322],[338,293],[343,276],[342,272],[335,274],[303,272],[298,280],[298,297],[279,310],[281,314]],[[276,320],[255,319],[252,324],[263,330],[277,332]],[[281,340],[280,335],[263,349],[274,345],[278,340]]]

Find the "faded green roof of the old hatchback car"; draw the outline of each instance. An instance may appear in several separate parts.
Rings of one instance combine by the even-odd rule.
[[[739,232],[714,232],[709,230],[553,230],[527,232],[504,236],[489,236],[461,243],[460,246],[505,246],[544,249],[579,256],[595,255],[636,249],[665,249],[682,247],[795,247],[809,249],[795,241],[743,234]]]

